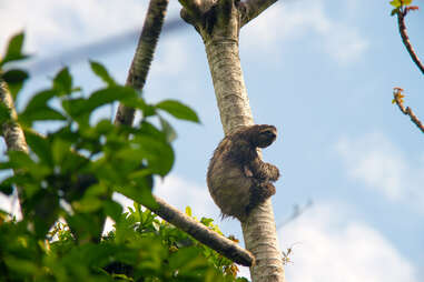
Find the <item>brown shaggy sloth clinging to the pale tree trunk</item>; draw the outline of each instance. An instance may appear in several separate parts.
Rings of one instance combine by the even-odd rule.
[[[249,212],[275,194],[272,182],[278,169],[263,162],[257,148],[270,145],[277,137],[274,125],[243,127],[220,141],[210,160],[207,184],[223,218],[244,221]]]

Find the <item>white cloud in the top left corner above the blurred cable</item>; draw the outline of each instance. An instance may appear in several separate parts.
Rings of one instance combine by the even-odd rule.
[[[1,47],[26,30],[27,50],[49,54],[141,27],[147,2],[137,0],[38,0],[0,3]]]

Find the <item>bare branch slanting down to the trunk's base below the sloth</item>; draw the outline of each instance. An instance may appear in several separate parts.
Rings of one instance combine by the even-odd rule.
[[[204,224],[197,222],[193,218],[184,214],[176,208],[169,205],[162,199],[155,197],[157,207],[146,207],[154,213],[166,220],[167,222],[174,224],[178,229],[187,232],[193,238],[195,238],[200,243],[209,246],[210,249],[217,251],[218,253],[225,255],[231,261],[250,266],[255,259],[250,252],[244,250],[241,246],[233,242],[231,240],[218,234],[217,232],[208,229]]]

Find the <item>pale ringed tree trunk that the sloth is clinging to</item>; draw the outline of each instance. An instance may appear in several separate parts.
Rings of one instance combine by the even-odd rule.
[[[201,36],[213,77],[224,132],[252,125],[239,52],[239,29],[276,0],[179,0],[183,19]],[[253,282],[285,281],[282,252],[270,199],[255,208],[241,222],[246,249],[256,263],[250,266]]]

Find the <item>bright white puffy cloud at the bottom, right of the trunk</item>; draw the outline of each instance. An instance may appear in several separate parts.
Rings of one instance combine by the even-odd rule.
[[[293,250],[287,281],[418,281],[390,241],[365,223],[346,221],[346,213],[342,205],[317,204],[284,228],[283,246]]]

